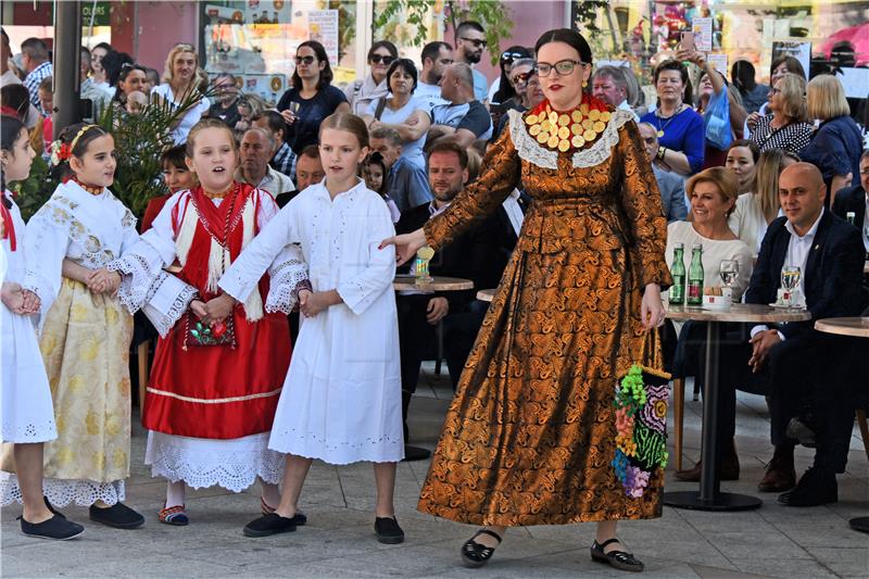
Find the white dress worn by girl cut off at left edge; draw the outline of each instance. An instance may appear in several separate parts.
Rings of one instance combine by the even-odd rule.
[[[3,237],[0,238],[5,259],[5,284],[24,284],[24,221],[12,193],[3,196],[10,207],[0,203],[0,219]],[[46,366],[39,354],[34,316],[20,316],[5,304],[0,304],[0,386],[2,386],[2,435],[3,442],[46,442],[58,437],[54,427],[54,410],[46,376]],[[8,504],[9,498],[3,498]],[[21,500],[21,496],[15,496]]]

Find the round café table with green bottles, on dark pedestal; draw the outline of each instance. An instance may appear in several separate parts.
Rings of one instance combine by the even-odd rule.
[[[720,491],[718,461],[718,354],[723,324],[744,322],[772,324],[805,322],[811,315],[805,310],[778,309],[763,304],[733,304],[727,310],[705,310],[696,306],[668,305],[667,317],[677,322],[693,319],[706,323],[706,375],[703,381],[703,442],[700,491],[665,492],[664,504],[696,511],[747,511],[763,501],[756,496]]]

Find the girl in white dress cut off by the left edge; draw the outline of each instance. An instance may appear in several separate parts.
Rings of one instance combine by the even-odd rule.
[[[35,156],[27,129],[15,116],[0,121],[0,387],[2,387],[2,440],[14,443],[20,499],[24,503],[21,530],[43,539],[72,539],[84,527],[51,512],[42,499],[43,443],[58,438],[34,317],[38,303],[25,304],[24,222],[5,188],[7,180],[23,180]]]

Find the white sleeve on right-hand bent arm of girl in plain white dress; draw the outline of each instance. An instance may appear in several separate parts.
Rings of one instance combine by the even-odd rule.
[[[380,200],[369,205],[368,218],[363,231],[367,246],[368,264],[362,273],[338,284],[338,294],[350,310],[361,315],[377,298],[391,290],[395,278],[395,248],[379,249],[383,239],[395,235],[392,218],[386,203]]]

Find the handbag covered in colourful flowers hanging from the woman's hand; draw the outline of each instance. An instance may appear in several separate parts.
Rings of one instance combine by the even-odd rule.
[[[667,466],[667,398],[658,330],[646,332],[640,357],[616,383],[616,456],[613,467],[628,496],[640,498]]]

